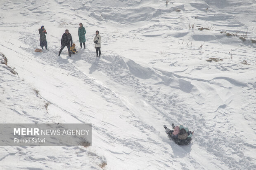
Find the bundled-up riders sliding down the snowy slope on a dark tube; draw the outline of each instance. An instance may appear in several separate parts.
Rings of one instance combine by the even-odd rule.
[[[167,128],[164,125],[165,128],[165,132],[166,134],[168,134],[168,137],[173,140],[175,142],[175,144],[178,145],[186,145],[186,144],[190,144],[191,140],[192,140],[192,135],[194,134],[194,132],[190,132],[188,130],[188,128],[184,128],[184,126],[180,125],[179,126],[174,126],[174,124],[172,124],[173,126],[173,130]]]

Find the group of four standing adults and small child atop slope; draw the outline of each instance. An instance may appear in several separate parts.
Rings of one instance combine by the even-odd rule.
[[[40,46],[45,47],[45,49],[47,49],[47,41],[46,41],[46,35],[47,32],[45,30],[45,26],[41,26],[41,28],[38,29],[39,34],[40,34]],[[79,28],[78,28],[78,37],[79,37],[79,42],[80,42],[80,47],[82,48],[82,43],[83,43],[83,47],[85,49],[85,34],[86,34],[86,30],[83,27],[82,23],[79,23]],[[101,51],[100,51],[100,47],[101,47],[101,36],[99,34],[99,31],[96,31],[96,35],[93,39],[94,42],[94,47],[96,49],[96,55],[97,57],[100,57],[101,55]],[[65,33],[62,35],[62,40],[61,40],[61,49],[59,50],[59,56],[62,53],[62,50],[67,47],[68,51],[69,51],[69,56],[71,57],[71,53],[75,54],[76,48],[75,48],[75,44],[73,44],[73,40],[72,40],[72,36],[69,33],[69,30],[65,30]],[[48,49],[47,49],[48,50]]]

